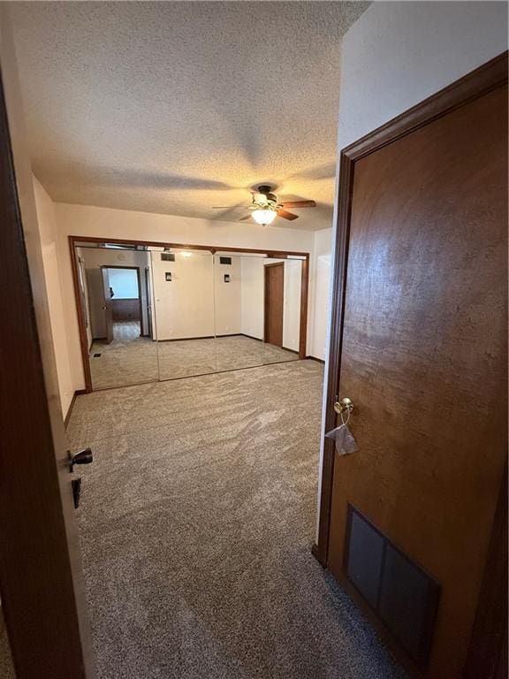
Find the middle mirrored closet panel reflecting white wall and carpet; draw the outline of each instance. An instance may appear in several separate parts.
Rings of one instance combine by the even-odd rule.
[[[211,253],[161,248],[151,259],[159,378],[216,372]]]

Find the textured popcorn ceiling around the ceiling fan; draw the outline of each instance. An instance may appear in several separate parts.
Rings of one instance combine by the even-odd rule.
[[[34,172],[60,202],[235,221],[247,191],[330,226],[341,36],[366,3],[15,3]],[[240,225],[239,225],[240,227]]]

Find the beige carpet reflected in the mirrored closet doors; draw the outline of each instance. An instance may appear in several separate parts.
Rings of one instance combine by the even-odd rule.
[[[206,375],[299,358],[291,351],[245,335],[154,342],[140,337],[140,324],[129,321],[115,323],[113,335],[110,344],[95,341],[90,349],[94,389]],[[100,356],[94,357],[94,354]]]

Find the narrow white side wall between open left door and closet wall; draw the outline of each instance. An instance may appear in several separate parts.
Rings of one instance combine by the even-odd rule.
[[[49,321],[53,335],[57,379],[60,392],[62,413],[65,417],[74,395],[72,370],[69,362],[69,348],[65,332],[65,314],[60,271],[57,256],[57,222],[53,202],[38,179],[34,177],[35,209],[39,222],[39,235],[42,247],[42,264],[49,304]]]

